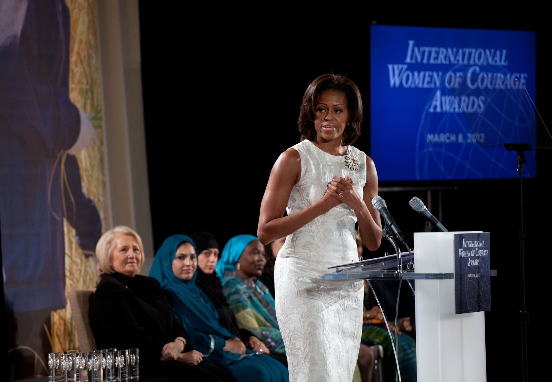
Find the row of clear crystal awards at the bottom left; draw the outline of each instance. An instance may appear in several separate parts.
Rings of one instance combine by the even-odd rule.
[[[49,382],[123,382],[140,376],[138,349],[70,350],[48,355]]]

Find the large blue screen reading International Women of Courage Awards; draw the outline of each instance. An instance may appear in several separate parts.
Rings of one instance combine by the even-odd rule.
[[[482,88],[477,89],[477,79],[466,77],[485,77],[479,79]],[[502,115],[490,125],[506,128],[512,121],[501,113],[511,109],[503,104],[508,89],[492,93],[485,88],[497,77],[515,78],[535,100],[534,32],[371,25],[370,156],[379,180],[517,177],[516,153],[489,147],[499,146],[496,139],[484,146],[484,130],[482,136],[481,130],[474,134],[454,97],[463,87],[479,91],[471,98],[465,93],[466,105],[473,99],[474,110]],[[457,87],[449,87],[447,79],[455,79]],[[502,98],[492,95],[497,93]],[[529,136],[534,137],[532,126]],[[510,136],[505,141],[534,144]],[[523,176],[534,177],[535,149],[526,157]]]

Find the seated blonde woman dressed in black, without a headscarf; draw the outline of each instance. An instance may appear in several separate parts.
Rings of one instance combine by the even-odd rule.
[[[140,375],[169,381],[236,381],[202,361],[174,317],[156,279],[137,275],[144,261],[140,236],[129,227],[105,232],[96,245],[100,282],[89,321],[98,349],[140,349]]]

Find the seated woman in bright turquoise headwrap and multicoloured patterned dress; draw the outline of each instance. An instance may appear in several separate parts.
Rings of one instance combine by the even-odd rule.
[[[285,353],[274,298],[258,279],[265,263],[264,246],[259,239],[237,235],[224,246],[216,272],[238,325],[261,338],[270,352]]]

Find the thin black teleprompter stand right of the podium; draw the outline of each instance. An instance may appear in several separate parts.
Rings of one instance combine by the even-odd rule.
[[[522,371],[523,371],[523,381],[527,382],[529,380],[529,365],[527,358],[527,325],[529,322],[529,312],[527,311],[526,305],[526,290],[525,290],[525,238],[526,234],[523,229],[523,164],[527,162],[524,151],[532,150],[531,146],[527,143],[504,143],[504,148],[506,150],[516,151],[518,164],[518,174],[519,174],[519,207],[520,207],[520,220],[521,220],[521,229],[519,230],[519,261],[521,268],[521,305],[522,310],[519,311],[519,320],[521,322],[521,353],[522,353]]]

